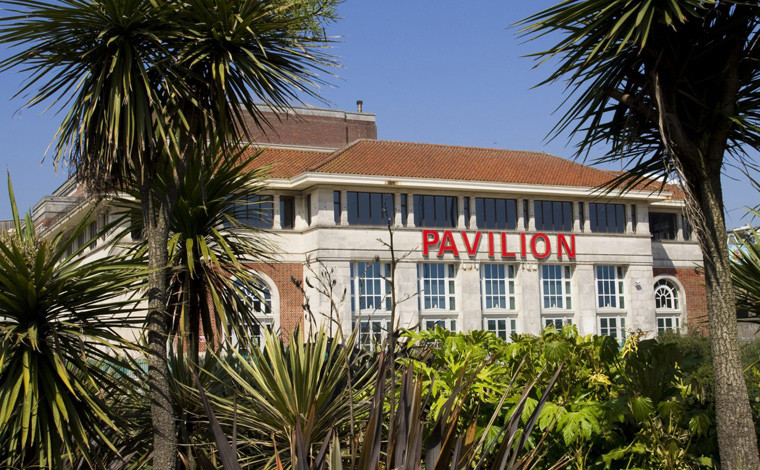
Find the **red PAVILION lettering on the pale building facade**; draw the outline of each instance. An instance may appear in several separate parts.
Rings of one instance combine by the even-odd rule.
[[[475,233],[459,232],[455,235],[452,230],[438,232],[436,230],[422,231],[422,254],[430,256],[430,252],[437,252],[436,256],[443,256],[450,253],[455,258],[459,258],[459,253],[466,253],[467,256],[474,257],[478,254],[480,246],[485,244],[488,248],[488,256],[494,258],[527,258],[528,253],[535,258],[547,258],[553,252],[557,254],[558,259],[563,256],[575,258],[575,235],[558,233],[556,235],[547,235],[538,232],[530,237],[526,233],[520,233],[519,246],[507,246],[507,232],[481,232]]]

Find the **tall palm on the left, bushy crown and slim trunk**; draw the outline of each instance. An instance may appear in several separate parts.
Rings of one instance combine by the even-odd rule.
[[[148,239],[148,365],[154,468],[174,466],[166,363],[169,214],[188,165],[213,135],[245,134],[254,105],[315,95],[332,65],[316,25],[336,0],[2,0],[0,70],[28,80],[26,106],[59,103],[58,160],[93,191],[140,188]],[[263,122],[263,121],[262,121]],[[235,139],[232,139],[233,141]],[[159,181],[157,175],[171,175]],[[163,191],[155,188],[163,186]]]

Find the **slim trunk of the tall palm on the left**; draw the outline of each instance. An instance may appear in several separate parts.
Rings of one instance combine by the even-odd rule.
[[[143,220],[148,237],[148,385],[153,422],[153,468],[173,470],[177,455],[174,410],[171,401],[167,341],[169,316],[166,310],[169,252],[168,208],[165,198],[153,197],[152,179],[140,187]],[[162,202],[159,202],[162,201]]]

